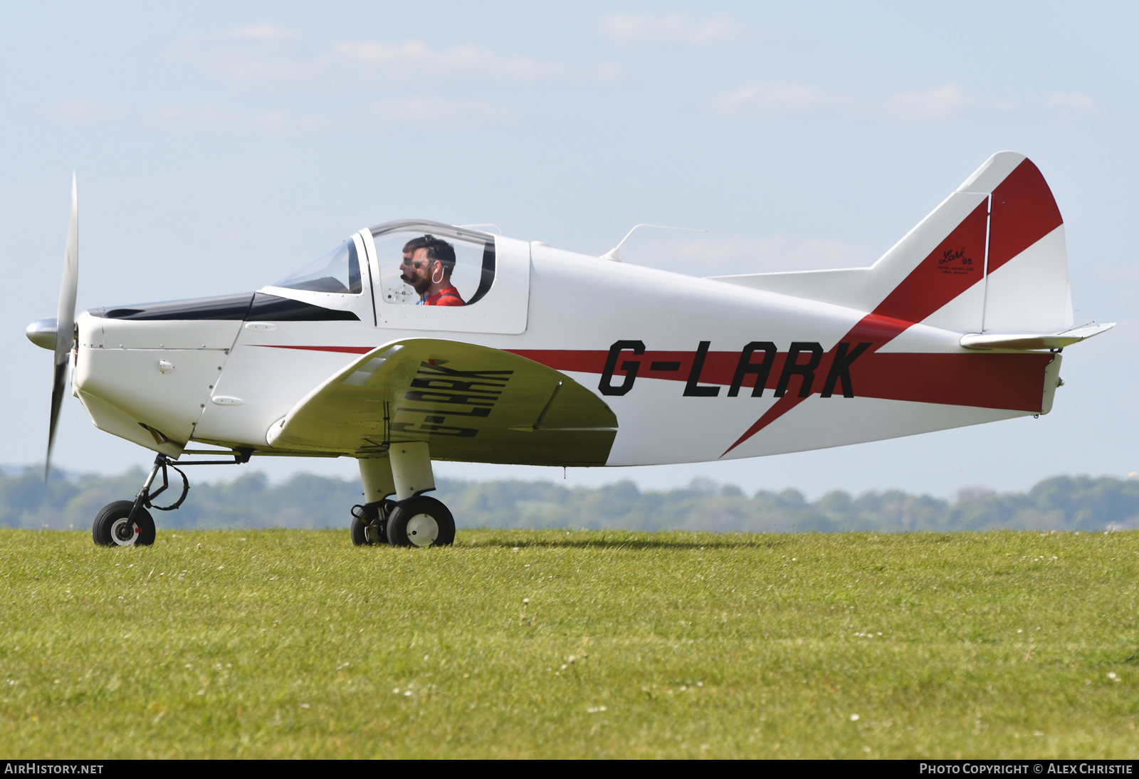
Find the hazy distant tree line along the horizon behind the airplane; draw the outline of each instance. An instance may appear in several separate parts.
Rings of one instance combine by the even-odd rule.
[[[144,477],[138,469],[120,476],[52,473],[44,485],[42,470],[7,468],[0,473],[0,526],[90,527],[103,506],[133,497]],[[1139,481],[1109,476],[1056,476],[1024,493],[962,490],[952,501],[898,490],[857,498],[836,490],[816,501],[797,490],[746,495],[731,484],[703,478],[669,491],[641,491],[632,482],[567,487],[552,482],[444,478],[434,494],[450,507],[460,527],[723,533],[1139,527]],[[153,514],[159,528],[347,527],[349,509],[361,500],[359,482],[298,474],[273,485],[255,472],[231,482],[194,484],[179,510]]]

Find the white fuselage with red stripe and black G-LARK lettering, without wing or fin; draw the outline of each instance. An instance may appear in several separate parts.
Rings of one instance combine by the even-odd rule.
[[[360,270],[344,292],[305,282],[84,312],[74,394],[101,429],[170,456],[190,442],[270,452],[270,427],[361,354],[441,338],[514,352],[596,393],[617,418],[611,466],[801,451],[1051,405],[1056,354],[970,352],[959,331],[915,322],[876,330],[857,308],[435,223],[393,224],[350,239]],[[431,308],[401,298],[384,246],[449,230],[476,248],[486,243],[490,260],[464,290],[477,300]]]

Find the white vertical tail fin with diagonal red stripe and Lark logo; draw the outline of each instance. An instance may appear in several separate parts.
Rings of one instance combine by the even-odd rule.
[[[990,157],[870,268],[714,278],[958,333],[1072,326],[1064,220],[1014,151]]]

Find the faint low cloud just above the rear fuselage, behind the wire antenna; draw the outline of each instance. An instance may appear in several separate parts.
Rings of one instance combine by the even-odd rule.
[[[877,259],[854,244],[788,236],[657,239],[623,246],[621,254],[623,262],[688,276],[862,268]]]

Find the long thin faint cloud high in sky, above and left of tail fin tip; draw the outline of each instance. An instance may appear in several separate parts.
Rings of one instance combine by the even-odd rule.
[[[966,110],[1008,110],[1014,107],[1008,100],[969,95],[957,84],[895,92],[885,98],[857,98],[810,84],[748,84],[714,97],[710,105],[713,110],[723,114],[790,116],[831,113],[912,121],[936,121]]]

